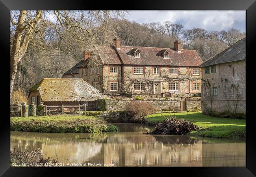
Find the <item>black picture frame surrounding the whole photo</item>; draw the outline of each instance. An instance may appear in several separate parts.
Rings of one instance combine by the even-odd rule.
[[[94,174],[98,176],[100,172],[104,175],[112,176],[128,176],[136,175],[133,169],[143,170],[143,175],[146,173],[156,175],[179,175],[188,173],[191,176],[246,176],[251,177],[256,175],[256,136],[254,132],[255,119],[253,115],[253,83],[251,79],[255,76],[253,72],[255,60],[254,43],[256,42],[256,2],[255,0],[176,0],[176,1],[163,1],[163,0],[148,0],[148,1],[106,1],[94,2],[88,0],[1,0],[0,2],[0,41],[1,41],[1,66],[2,66],[2,107],[1,107],[1,166],[0,175],[3,176],[49,176],[57,172],[66,175]],[[136,9],[136,10],[246,10],[246,36],[247,36],[247,139],[246,139],[246,168],[14,168],[9,164],[9,113],[7,107],[9,98],[7,92],[9,79],[4,73],[8,73],[9,56],[9,13],[13,9]],[[4,54],[4,55],[3,55]],[[6,70],[6,71],[4,71]],[[250,80],[251,79],[251,80]],[[252,87],[248,87],[252,86]],[[250,95],[251,94],[251,95]],[[254,104],[255,105],[255,104]],[[132,170],[131,170],[132,169]],[[109,171],[111,170],[111,171]],[[137,173],[138,174],[138,173]]]

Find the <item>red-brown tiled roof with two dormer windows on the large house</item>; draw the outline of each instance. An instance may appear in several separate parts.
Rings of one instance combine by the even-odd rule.
[[[141,51],[140,58],[134,57],[134,49]],[[161,53],[169,52],[169,59],[164,59]],[[117,50],[124,65],[164,65],[164,66],[199,66],[202,60],[195,50],[177,52],[171,48],[130,47],[120,46]]]

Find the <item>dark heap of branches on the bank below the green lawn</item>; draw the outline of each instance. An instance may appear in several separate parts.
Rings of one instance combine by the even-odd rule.
[[[160,113],[161,114],[161,113]],[[173,111],[174,114],[174,111]],[[152,134],[157,135],[185,135],[193,130],[198,130],[200,127],[194,125],[192,122],[187,120],[177,120],[174,114],[174,117],[169,112],[169,118],[161,114],[165,117],[165,121],[156,125],[155,129],[150,132]]]

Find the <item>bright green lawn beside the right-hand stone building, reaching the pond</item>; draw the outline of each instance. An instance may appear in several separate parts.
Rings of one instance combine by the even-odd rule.
[[[168,113],[162,113],[169,118]],[[173,113],[171,113],[173,115]],[[200,131],[192,131],[190,135],[207,136],[212,138],[239,138],[246,134],[246,120],[231,118],[216,118],[202,114],[201,112],[177,112],[177,119],[183,118],[202,127]],[[156,125],[165,118],[161,114],[147,116],[150,125]],[[238,134],[238,135],[237,135]]]

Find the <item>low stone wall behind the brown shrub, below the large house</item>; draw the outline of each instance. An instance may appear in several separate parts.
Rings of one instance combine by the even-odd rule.
[[[156,111],[167,111],[173,110],[180,111],[180,98],[148,98],[144,100],[134,100],[134,99],[123,99],[123,100],[107,100],[106,110],[107,111],[125,111],[126,105],[130,101],[138,102],[150,102],[156,108]]]

